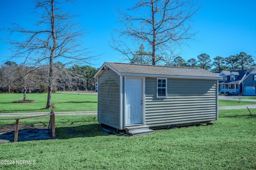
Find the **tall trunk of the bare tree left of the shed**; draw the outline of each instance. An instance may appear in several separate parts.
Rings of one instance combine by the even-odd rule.
[[[48,78],[48,96],[47,96],[46,109],[52,108],[52,86],[53,86],[53,64],[54,64],[53,59],[54,59],[54,54],[55,54],[56,45],[57,45],[57,39],[56,39],[56,36],[55,36],[54,0],[51,0],[51,3],[52,3],[51,25],[52,25],[53,46],[52,46],[51,54],[50,54],[49,78]]]

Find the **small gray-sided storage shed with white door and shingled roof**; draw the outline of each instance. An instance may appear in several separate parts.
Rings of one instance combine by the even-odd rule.
[[[217,74],[200,68],[104,63],[98,122],[124,130],[210,123],[218,119]]]

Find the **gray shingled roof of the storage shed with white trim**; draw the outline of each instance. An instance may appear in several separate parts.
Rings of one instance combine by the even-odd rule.
[[[157,66],[130,63],[104,63],[105,69],[110,68],[120,76],[148,76],[148,77],[173,77],[173,78],[200,78],[200,79],[220,79],[221,76],[204,70],[202,68]],[[100,76],[101,68],[94,77]]]

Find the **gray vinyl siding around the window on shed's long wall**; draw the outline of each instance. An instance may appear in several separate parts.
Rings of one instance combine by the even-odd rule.
[[[151,127],[217,119],[217,80],[167,79],[167,98],[156,98],[156,78],[146,78],[145,122]]]

